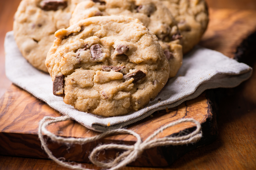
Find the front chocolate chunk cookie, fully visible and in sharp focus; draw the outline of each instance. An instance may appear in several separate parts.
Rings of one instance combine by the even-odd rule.
[[[77,110],[127,114],[153,100],[168,80],[164,51],[138,19],[91,17],[55,36],[45,61],[53,94]]]

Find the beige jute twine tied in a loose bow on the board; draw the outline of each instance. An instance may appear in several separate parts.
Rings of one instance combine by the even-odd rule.
[[[145,149],[149,149],[156,146],[165,146],[165,145],[184,145],[189,143],[196,143],[201,137],[202,137],[202,131],[201,131],[201,125],[198,121],[192,118],[185,118],[180,119],[175,122],[172,122],[170,124],[167,124],[160,128],[159,130],[155,131],[152,135],[150,135],[145,141],[141,141],[140,135],[135,133],[134,131],[127,130],[127,129],[116,129],[107,131],[104,133],[101,133],[100,135],[90,137],[90,138],[63,138],[60,136],[56,136],[52,134],[50,131],[46,130],[46,126],[57,123],[70,120],[70,117],[68,116],[61,116],[61,117],[44,117],[40,121],[39,129],[38,129],[38,135],[39,139],[42,143],[42,148],[45,150],[45,152],[48,154],[48,156],[54,160],[56,163],[58,163],[61,166],[68,167],[70,169],[77,169],[77,170],[89,170],[87,168],[83,168],[80,164],[77,165],[71,165],[67,162],[64,162],[62,160],[57,159],[55,156],[53,156],[52,152],[48,149],[46,145],[46,139],[43,138],[43,133],[50,137],[52,141],[58,142],[58,143],[65,143],[65,144],[86,144],[88,142],[92,142],[101,138],[104,138],[108,135],[113,134],[131,134],[137,138],[137,142],[134,145],[119,145],[119,144],[106,144],[106,145],[100,145],[93,149],[91,152],[89,159],[94,165],[101,166],[104,168],[108,168],[109,170],[117,170],[121,167],[126,166],[127,164],[131,163],[132,161],[136,160],[142,152]],[[154,138],[157,134],[161,133],[166,128],[169,128],[171,126],[183,123],[183,122],[192,122],[196,124],[196,130],[192,133],[189,133],[185,136],[181,137],[164,137],[164,138]],[[104,149],[122,149],[126,150],[122,154],[116,157],[116,159],[112,160],[112,162],[104,163],[96,160],[97,154]]]

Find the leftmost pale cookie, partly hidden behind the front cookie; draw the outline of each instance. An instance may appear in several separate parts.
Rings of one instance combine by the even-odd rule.
[[[13,31],[22,55],[34,67],[48,72],[44,65],[54,41],[54,32],[68,28],[72,9],[80,1],[22,0],[14,16]]]

